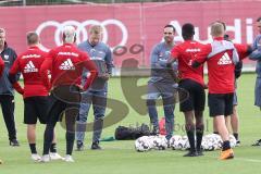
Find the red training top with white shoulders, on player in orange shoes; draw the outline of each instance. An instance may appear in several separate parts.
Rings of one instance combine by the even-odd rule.
[[[239,61],[234,44],[223,40],[223,37],[214,38],[212,44],[206,45],[202,52],[196,55],[195,62],[203,63],[204,61],[208,62],[209,92],[234,92],[235,64]]]

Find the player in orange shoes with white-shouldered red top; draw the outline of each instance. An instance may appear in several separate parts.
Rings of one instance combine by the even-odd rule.
[[[224,115],[233,113],[235,91],[235,64],[239,61],[236,48],[231,41],[224,40],[225,29],[219,22],[211,25],[213,42],[206,45],[202,52],[196,54],[192,66],[197,67],[207,61],[209,71],[209,108],[210,116],[214,117],[217,132],[223,140],[221,160],[234,158],[229,144],[229,134]]]

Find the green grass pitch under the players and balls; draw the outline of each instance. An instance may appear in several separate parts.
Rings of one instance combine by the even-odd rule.
[[[138,84],[146,85],[147,78],[141,78]],[[26,126],[23,124],[23,100],[16,95],[15,115],[17,125],[17,137],[21,147],[13,148],[9,146],[5,125],[3,119],[0,120],[0,159],[4,161],[0,165],[0,174],[253,174],[260,173],[261,166],[261,147],[251,147],[250,145],[258,138],[261,138],[261,112],[253,105],[253,89],[256,75],[244,74],[238,80],[238,113],[240,119],[239,136],[241,146],[235,148],[235,159],[229,161],[217,160],[220,151],[204,152],[199,158],[183,158],[184,151],[149,151],[136,152],[134,141],[108,141],[101,142],[103,150],[89,150],[91,133],[86,135],[86,150],[74,151],[75,163],[65,163],[63,161],[52,161],[50,163],[34,163],[30,160],[29,148],[26,140]],[[112,78],[109,86],[109,97],[126,102],[123,96],[120,78]],[[159,115],[163,115],[162,108],[158,108]],[[92,113],[92,111],[90,111]],[[2,117],[2,113],[1,116]],[[89,115],[92,120],[92,114]],[[103,129],[102,137],[114,135],[117,125],[136,125],[149,123],[148,115],[140,115],[129,107],[127,117],[120,123]],[[175,123],[184,124],[184,116],[175,110]],[[212,120],[208,116],[208,108],[204,112],[204,123],[207,133],[212,132]],[[37,149],[41,154],[42,133],[45,126],[37,127]],[[174,134],[185,135],[182,128],[175,128]],[[65,151],[65,132],[58,124],[58,150],[64,156]]]

